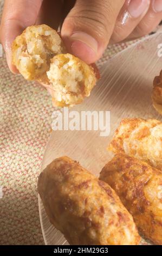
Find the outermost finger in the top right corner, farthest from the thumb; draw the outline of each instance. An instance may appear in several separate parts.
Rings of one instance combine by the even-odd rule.
[[[129,35],[129,39],[139,38],[140,36],[151,33],[162,20],[162,0],[151,0],[150,8],[145,17],[139,22],[138,26]]]

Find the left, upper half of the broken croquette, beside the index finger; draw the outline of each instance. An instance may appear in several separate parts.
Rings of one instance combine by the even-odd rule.
[[[66,52],[60,35],[47,25],[31,26],[12,44],[12,62],[27,80],[48,83],[46,71],[56,54]]]

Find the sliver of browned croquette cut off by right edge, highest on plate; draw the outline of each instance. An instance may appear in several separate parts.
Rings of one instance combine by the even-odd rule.
[[[154,108],[162,114],[162,70],[160,75],[156,76],[153,81],[152,102]]]

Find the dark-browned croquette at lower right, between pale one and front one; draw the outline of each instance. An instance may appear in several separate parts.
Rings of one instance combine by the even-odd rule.
[[[162,245],[162,173],[144,161],[118,154],[100,173],[148,239]]]

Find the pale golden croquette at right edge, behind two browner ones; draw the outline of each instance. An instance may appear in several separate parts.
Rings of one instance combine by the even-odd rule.
[[[162,170],[162,123],[155,119],[123,119],[108,150],[137,157]]]

